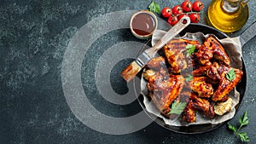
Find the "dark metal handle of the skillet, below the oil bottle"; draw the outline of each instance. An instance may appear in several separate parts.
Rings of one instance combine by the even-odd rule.
[[[256,36],[256,21],[240,35],[241,47]]]

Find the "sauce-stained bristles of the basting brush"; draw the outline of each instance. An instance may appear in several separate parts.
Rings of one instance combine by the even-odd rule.
[[[130,82],[131,79],[133,79],[137,75],[137,73],[141,71],[141,69],[142,67],[139,66],[136,61],[133,61],[129,66],[125,68],[123,72],[121,72],[121,76],[127,82]]]

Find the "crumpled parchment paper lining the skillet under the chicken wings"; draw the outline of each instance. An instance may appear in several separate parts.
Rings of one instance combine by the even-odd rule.
[[[163,37],[166,32],[157,30],[154,32],[152,37],[152,45],[154,43],[158,42],[160,37]],[[201,32],[196,33],[186,33],[183,37],[176,37],[176,38],[185,38],[189,40],[197,40],[200,43],[203,43],[206,37],[209,35],[204,35]],[[217,38],[218,39],[218,38]],[[235,68],[242,68],[242,61],[241,61],[241,43],[239,41],[238,37],[233,38],[224,38],[224,39],[218,39],[220,43],[223,44],[224,49],[226,50],[226,53],[230,56],[231,60],[231,66]],[[230,112],[225,113],[223,116],[216,115],[215,118],[209,119],[204,116],[203,113],[196,111],[196,122],[195,123],[185,123],[182,121],[181,117],[177,117],[176,119],[168,119],[165,118],[160,114],[160,110],[155,107],[154,102],[150,101],[150,98],[148,97],[148,89],[146,87],[147,81],[144,78],[141,78],[141,89],[142,89],[142,95],[143,95],[143,103],[146,107],[146,110],[155,116],[162,118],[166,124],[172,125],[172,126],[188,126],[190,124],[220,124],[224,121],[233,118],[236,113],[236,105],[239,103],[240,94],[235,90],[230,92],[230,98],[233,101],[232,107]]]

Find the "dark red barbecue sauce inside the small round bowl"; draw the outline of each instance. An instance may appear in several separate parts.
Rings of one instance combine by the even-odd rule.
[[[139,13],[131,21],[131,27],[137,35],[146,36],[154,31],[155,21],[152,15]]]

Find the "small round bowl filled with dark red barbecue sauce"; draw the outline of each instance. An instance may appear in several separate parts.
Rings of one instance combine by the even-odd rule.
[[[147,39],[153,35],[158,25],[154,13],[148,10],[141,10],[131,15],[131,33],[140,39]]]

